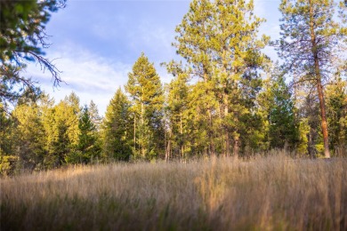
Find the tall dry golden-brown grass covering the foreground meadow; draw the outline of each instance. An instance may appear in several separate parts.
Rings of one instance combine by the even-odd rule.
[[[347,159],[79,166],[1,179],[1,230],[346,230]]]

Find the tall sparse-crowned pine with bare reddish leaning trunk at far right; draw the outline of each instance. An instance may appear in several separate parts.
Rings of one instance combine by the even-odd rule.
[[[333,0],[283,0],[279,10],[283,23],[278,54],[286,60],[286,68],[295,75],[295,82],[306,82],[317,89],[324,154],[329,158],[323,85],[324,79],[331,76],[338,52],[343,51],[339,46],[347,29],[343,20],[335,21]]]

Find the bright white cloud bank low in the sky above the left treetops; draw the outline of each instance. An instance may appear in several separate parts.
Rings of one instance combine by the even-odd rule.
[[[109,100],[119,86],[127,81],[127,73],[131,66],[121,62],[112,62],[98,57],[75,44],[67,44],[58,51],[52,52],[49,58],[58,58],[53,63],[59,68],[61,87],[53,88],[52,76],[43,73],[35,64],[30,64],[26,76],[38,80],[44,92],[48,92],[55,100],[62,100],[70,92],[76,92],[81,104],[89,104],[93,100],[104,114]]]

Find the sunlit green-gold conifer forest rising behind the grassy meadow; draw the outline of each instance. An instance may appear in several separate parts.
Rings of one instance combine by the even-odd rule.
[[[345,2],[281,1],[280,39],[272,41],[259,34],[266,22],[253,1],[194,0],[175,30],[182,59],[162,63],[172,81],[163,84],[142,52],[104,116],[74,92],[55,102],[22,75],[34,61],[54,85],[63,81],[41,48],[48,45],[45,24],[64,4],[1,2],[1,174],[273,149],[346,155]],[[266,46],[280,60],[270,60]]]

